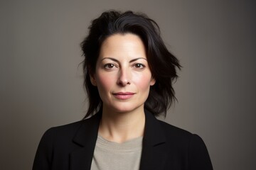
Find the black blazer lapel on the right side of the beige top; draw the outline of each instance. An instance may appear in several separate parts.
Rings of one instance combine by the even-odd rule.
[[[166,137],[159,121],[154,115],[145,111],[146,125],[142,147],[141,170],[164,169],[168,149],[166,148]]]

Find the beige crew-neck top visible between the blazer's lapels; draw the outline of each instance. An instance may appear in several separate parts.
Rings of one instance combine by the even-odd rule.
[[[91,170],[139,170],[142,140],[137,137],[120,144],[98,135]]]

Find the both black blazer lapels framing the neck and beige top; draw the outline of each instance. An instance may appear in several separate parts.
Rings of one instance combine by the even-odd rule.
[[[156,120],[149,111],[145,111],[145,116],[146,123],[140,169],[161,169],[168,150],[165,145],[164,130],[162,130],[159,120]],[[82,120],[82,125],[73,138],[73,142],[80,145],[81,149],[70,154],[70,169],[90,170],[101,117],[102,113],[100,111],[92,118]]]

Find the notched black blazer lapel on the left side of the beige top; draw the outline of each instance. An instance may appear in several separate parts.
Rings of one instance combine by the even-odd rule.
[[[81,149],[70,154],[70,169],[90,170],[93,152],[97,140],[97,133],[100,125],[101,113],[97,113],[81,125],[73,142],[80,145]]]

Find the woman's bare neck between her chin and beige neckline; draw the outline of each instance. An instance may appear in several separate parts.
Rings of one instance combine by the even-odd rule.
[[[127,113],[102,110],[99,133],[106,140],[122,143],[144,135],[144,108]]]

